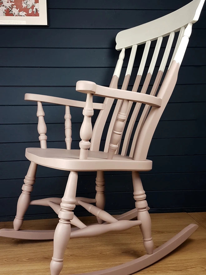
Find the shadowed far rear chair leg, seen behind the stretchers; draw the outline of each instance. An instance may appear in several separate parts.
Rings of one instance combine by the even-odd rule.
[[[104,210],[105,208],[105,177],[104,171],[96,172],[96,207]],[[97,221],[101,224],[103,220],[96,217]]]

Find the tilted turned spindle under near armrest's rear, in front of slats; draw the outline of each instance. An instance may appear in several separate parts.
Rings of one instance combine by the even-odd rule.
[[[107,159],[112,159],[115,154],[115,151],[118,148],[118,143],[120,142],[121,134],[124,129],[124,123],[125,123],[125,119],[126,119],[128,104],[129,104],[129,101],[124,100],[122,103],[122,106],[120,108],[120,111],[117,115],[117,120],[115,122],[113,131],[111,134],[111,138],[110,138]]]

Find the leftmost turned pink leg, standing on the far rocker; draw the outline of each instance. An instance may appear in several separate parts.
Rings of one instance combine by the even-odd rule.
[[[34,162],[30,163],[27,175],[24,179],[22,186],[22,193],[17,202],[17,215],[13,222],[14,230],[19,230],[23,224],[24,215],[29,207],[31,201],[31,192],[33,190],[33,184],[36,180],[37,164]]]

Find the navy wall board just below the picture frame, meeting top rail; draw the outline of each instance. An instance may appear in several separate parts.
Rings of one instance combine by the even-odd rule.
[[[201,13],[202,14],[202,13]],[[201,15],[202,16],[202,15]],[[200,20],[200,19],[199,19]],[[198,23],[195,25],[200,26]],[[206,29],[193,29],[192,37],[189,40],[188,47],[206,47]],[[30,32],[25,35],[24,28],[1,28],[2,37],[7,36],[7,39],[0,39],[0,47],[14,47],[13,37],[18,32],[19,37],[15,41],[15,47],[29,48],[115,48],[115,36],[121,29],[53,29],[31,28]],[[55,39],[54,39],[55,37]],[[72,39],[70,38],[72,37]],[[166,45],[166,43],[162,46]],[[141,46],[140,46],[141,47]],[[117,54],[115,51],[112,53]]]

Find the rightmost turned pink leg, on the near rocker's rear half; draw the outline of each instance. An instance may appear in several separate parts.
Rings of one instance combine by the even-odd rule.
[[[135,206],[138,208],[137,218],[142,222],[140,230],[143,235],[143,244],[148,254],[152,254],[154,250],[154,242],[152,240],[152,227],[150,214],[147,211],[146,195],[142,186],[139,172],[132,172],[132,181],[134,187]]]

